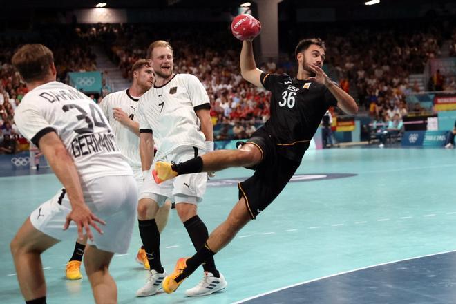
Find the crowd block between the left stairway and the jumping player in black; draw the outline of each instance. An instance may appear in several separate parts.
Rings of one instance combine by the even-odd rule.
[[[245,82],[240,76],[241,44],[226,25],[170,24],[161,32],[153,25],[102,25],[93,35],[97,35],[104,46],[109,46],[106,52],[118,63],[126,78],[131,78],[133,63],[146,57],[151,41],[170,41],[175,71],[196,75],[205,86],[211,99],[211,118],[220,140],[245,138],[269,119],[269,92]],[[270,72],[285,71],[277,68],[272,59],[265,61],[261,68]]]

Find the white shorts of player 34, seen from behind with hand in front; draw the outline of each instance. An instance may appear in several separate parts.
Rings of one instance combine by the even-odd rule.
[[[91,227],[94,240],[87,240],[87,244],[104,251],[126,254],[137,214],[137,186],[133,176],[95,178],[82,184],[82,191],[88,208],[106,222],[106,225],[97,223],[104,234],[99,234]],[[30,214],[30,221],[36,229],[48,236],[57,240],[74,241],[77,239],[75,223],[70,222],[68,230],[63,230],[70,211],[68,195],[65,189],[61,189]]]

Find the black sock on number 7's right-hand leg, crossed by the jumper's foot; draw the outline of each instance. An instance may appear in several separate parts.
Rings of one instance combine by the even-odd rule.
[[[193,216],[193,218],[184,222],[184,226],[189,233],[193,247],[195,247],[196,251],[198,251],[205,245],[207,238],[209,238],[205,223],[202,222],[199,216]],[[205,272],[211,272],[216,278],[220,278],[220,274],[218,273],[216,263],[214,262],[212,256],[204,261],[202,268],[205,269]]]

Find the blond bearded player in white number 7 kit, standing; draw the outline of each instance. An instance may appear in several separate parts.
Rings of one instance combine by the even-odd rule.
[[[209,115],[209,96],[197,77],[175,74],[173,48],[167,41],[154,41],[148,58],[155,72],[155,84],[140,98],[140,153],[143,170],[150,170],[156,160],[184,162],[213,150],[213,129]],[[153,140],[159,141],[153,157]],[[138,203],[138,220],[142,243],[146,249],[151,274],[137,296],[151,296],[162,288],[166,273],[160,260],[160,234],[155,213],[167,198],[175,209],[196,249],[204,245],[207,227],[197,213],[206,190],[207,173],[184,175],[156,184],[151,173],[144,180]],[[187,296],[205,296],[224,289],[227,282],[218,272],[213,258],[203,265],[205,276],[200,284],[187,290]]]

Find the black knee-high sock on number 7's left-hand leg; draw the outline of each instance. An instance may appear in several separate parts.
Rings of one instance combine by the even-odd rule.
[[[163,273],[162,262],[160,260],[160,232],[158,231],[157,223],[155,219],[137,221],[149,265],[156,272]]]

